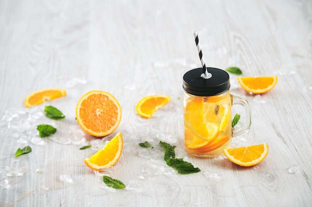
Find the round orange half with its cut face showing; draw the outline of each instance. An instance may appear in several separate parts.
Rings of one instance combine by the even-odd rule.
[[[121,121],[121,107],[110,93],[93,90],[79,99],[76,119],[86,133],[104,137],[118,127]]]

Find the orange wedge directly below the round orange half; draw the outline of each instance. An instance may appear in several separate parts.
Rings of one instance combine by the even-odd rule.
[[[102,149],[84,161],[91,169],[102,172],[102,169],[112,167],[117,163],[121,156],[123,145],[123,136],[121,133],[118,133]]]

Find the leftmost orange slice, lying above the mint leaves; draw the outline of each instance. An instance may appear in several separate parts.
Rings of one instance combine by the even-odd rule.
[[[33,105],[42,104],[45,101],[50,101],[66,95],[66,91],[61,88],[46,88],[30,93],[24,99],[24,105],[30,107]]]

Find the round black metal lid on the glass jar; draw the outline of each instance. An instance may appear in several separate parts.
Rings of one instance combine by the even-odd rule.
[[[201,77],[202,68],[191,69],[183,75],[183,89],[196,96],[214,96],[230,88],[230,76],[222,69],[207,68],[210,78]]]

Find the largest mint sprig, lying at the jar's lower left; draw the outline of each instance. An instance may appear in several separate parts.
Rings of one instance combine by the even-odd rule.
[[[171,146],[163,141],[160,141],[159,144],[165,148],[163,159],[166,164],[175,169],[179,174],[185,175],[200,172],[200,169],[198,167],[195,168],[191,163],[181,158],[175,158],[174,148],[176,146]]]

